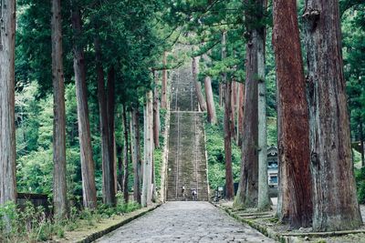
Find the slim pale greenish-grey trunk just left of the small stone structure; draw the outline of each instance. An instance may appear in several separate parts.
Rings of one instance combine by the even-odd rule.
[[[264,5],[266,8],[266,5]],[[257,209],[266,210],[271,206],[267,183],[267,127],[266,127],[266,84],[265,84],[265,27],[257,35],[258,74],[258,200]]]

